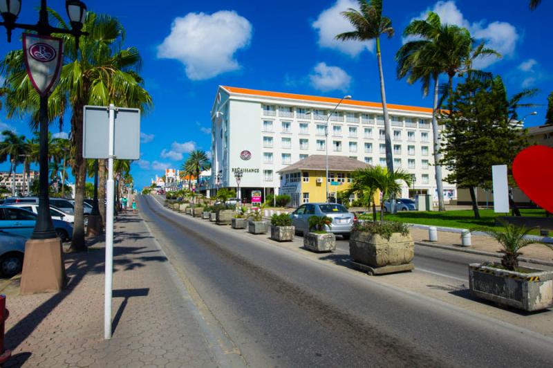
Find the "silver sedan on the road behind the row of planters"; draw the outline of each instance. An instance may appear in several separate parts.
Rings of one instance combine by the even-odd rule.
[[[308,219],[312,216],[328,216],[332,219],[330,229],[326,231],[339,234],[349,239],[351,227],[357,221],[355,214],[348,211],[344,205],[338,203],[306,203],[292,212],[292,223],[297,232],[309,232]]]

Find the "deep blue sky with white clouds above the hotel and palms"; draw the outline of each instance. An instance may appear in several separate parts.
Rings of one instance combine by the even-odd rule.
[[[527,126],[545,119],[547,94],[553,91],[551,30],[546,21],[553,3],[543,1],[534,12],[526,0],[407,1],[384,0],[395,36],[382,41],[388,102],[430,107],[420,86],[395,77],[394,55],[402,31],[413,18],[435,10],[442,20],[460,24],[504,56],[480,60],[500,74],[509,94],[538,88],[531,102],[543,107]],[[35,22],[39,1],[25,1],[20,21]],[[142,77],[154,108],[142,118],[142,159],[133,163],[136,185],[149,185],[165,167],[180,167],[191,149],[209,151],[209,110],[219,84],[379,101],[379,80],[373,44],[335,42],[348,30],[339,12],[353,0],[171,1],[86,0],[89,10],[118,17],[126,28],[126,46],[142,55]],[[49,5],[64,12],[62,1]],[[3,29],[0,30],[3,32]],[[18,31],[2,55],[21,47]],[[1,37],[4,37],[1,35]],[[68,119],[66,120],[68,122]],[[8,120],[0,111],[0,129],[30,136],[26,120]],[[57,124],[51,129],[57,133]],[[62,131],[68,132],[69,126]],[[7,164],[0,169],[7,169]],[[21,168],[20,168],[21,169]]]

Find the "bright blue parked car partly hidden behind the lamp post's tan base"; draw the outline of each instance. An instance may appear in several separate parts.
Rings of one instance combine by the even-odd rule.
[[[16,234],[26,239],[30,238],[35,229],[37,215],[23,208],[0,206],[0,230],[10,234]],[[62,241],[69,241],[73,236],[71,223],[61,220],[52,220],[56,234]]]

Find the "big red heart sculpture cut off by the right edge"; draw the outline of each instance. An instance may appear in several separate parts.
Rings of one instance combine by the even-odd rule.
[[[513,177],[529,199],[553,212],[553,148],[536,145],[523,149],[514,158]]]

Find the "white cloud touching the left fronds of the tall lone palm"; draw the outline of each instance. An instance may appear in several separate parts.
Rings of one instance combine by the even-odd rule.
[[[348,10],[348,8],[358,8],[357,1],[337,0],[333,6],[323,10],[319,14],[317,20],[311,25],[319,33],[319,46],[334,48],[352,57],[359,55],[363,50],[369,50],[372,53],[375,49],[375,42],[373,40],[366,42],[344,42],[335,38],[339,33],[354,29],[350,22],[340,14]]]

